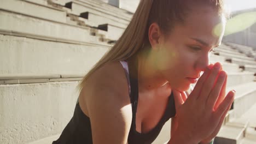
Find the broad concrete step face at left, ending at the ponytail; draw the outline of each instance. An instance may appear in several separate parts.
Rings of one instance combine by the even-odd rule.
[[[0,74],[84,74],[108,50],[109,46],[100,44],[0,34]]]

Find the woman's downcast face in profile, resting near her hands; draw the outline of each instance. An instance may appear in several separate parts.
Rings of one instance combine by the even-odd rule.
[[[172,88],[187,91],[191,83],[209,64],[214,47],[220,45],[225,20],[208,7],[191,10],[184,24],[177,24],[171,33],[159,39],[155,51],[159,73]]]

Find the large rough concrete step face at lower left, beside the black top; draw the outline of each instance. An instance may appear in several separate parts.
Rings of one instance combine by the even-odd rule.
[[[1,143],[29,143],[60,134],[73,116],[77,85],[78,81],[0,85]]]

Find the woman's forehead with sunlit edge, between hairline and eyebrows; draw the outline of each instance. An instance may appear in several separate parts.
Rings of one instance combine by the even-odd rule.
[[[218,44],[224,33],[225,19],[211,7],[195,6],[189,10],[184,22],[177,23],[174,33],[181,37],[202,39],[208,44]]]

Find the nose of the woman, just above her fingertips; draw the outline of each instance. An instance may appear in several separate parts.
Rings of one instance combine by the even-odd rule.
[[[206,67],[210,64],[210,55],[203,55],[201,57],[199,57],[196,61],[196,64],[195,64],[195,69],[196,71],[205,71]]]

